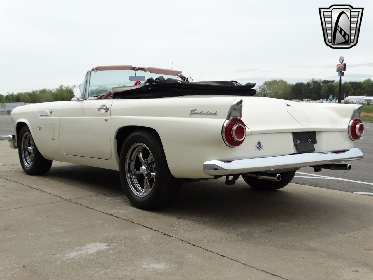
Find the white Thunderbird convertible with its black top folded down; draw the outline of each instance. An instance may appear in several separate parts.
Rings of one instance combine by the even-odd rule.
[[[255,84],[192,82],[181,71],[97,66],[71,101],[12,111],[23,170],[52,161],[118,170],[137,207],[169,204],[183,181],[242,175],[251,187],[286,186],[301,167],[350,170],[364,127],[361,105],[255,97]],[[343,162],[343,164],[341,164]]]

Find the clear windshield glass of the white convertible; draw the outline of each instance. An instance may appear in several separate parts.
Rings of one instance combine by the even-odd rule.
[[[160,76],[162,76],[165,79],[172,78],[181,80],[176,75],[155,74],[150,72],[144,72],[142,70],[105,70],[97,72],[92,71],[88,97],[106,94],[109,91],[112,91],[113,87],[127,87],[130,85],[134,85],[136,81],[134,81],[133,77],[131,77],[131,80],[129,80],[129,77],[134,76],[135,73],[137,76],[145,76],[145,80],[147,80],[148,78],[156,79]],[[140,82],[144,83],[144,81],[142,81],[144,77],[141,78],[142,79],[139,79]]]

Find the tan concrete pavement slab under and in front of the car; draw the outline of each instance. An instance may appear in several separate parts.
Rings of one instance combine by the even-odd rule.
[[[118,172],[28,176],[6,141],[0,155],[0,279],[372,279],[371,196],[215,180],[151,212]]]

